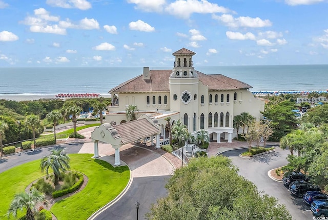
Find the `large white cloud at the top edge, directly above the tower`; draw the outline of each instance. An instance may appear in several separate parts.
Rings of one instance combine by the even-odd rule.
[[[178,0],[167,6],[165,11],[177,17],[188,19],[192,13],[228,13],[230,10],[217,4],[209,3],[206,0]]]

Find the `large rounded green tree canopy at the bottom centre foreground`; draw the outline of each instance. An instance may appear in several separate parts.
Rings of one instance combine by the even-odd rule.
[[[284,205],[237,174],[227,157],[197,157],[169,179],[147,219],[288,219]]]

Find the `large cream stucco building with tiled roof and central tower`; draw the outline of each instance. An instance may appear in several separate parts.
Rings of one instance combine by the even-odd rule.
[[[124,82],[109,93],[112,106],[108,107],[106,122],[118,125],[127,122],[126,108],[136,105],[138,116],[156,118],[161,138],[167,138],[165,118],[174,123],[178,119],[194,135],[204,129],[210,141],[228,141],[236,135],[233,118],[249,112],[260,119],[264,101],[254,97],[250,85],[221,74],[207,75],[195,70],[194,52],[182,48],[173,53],[171,70],[149,70]],[[127,128],[128,129],[128,128]]]

